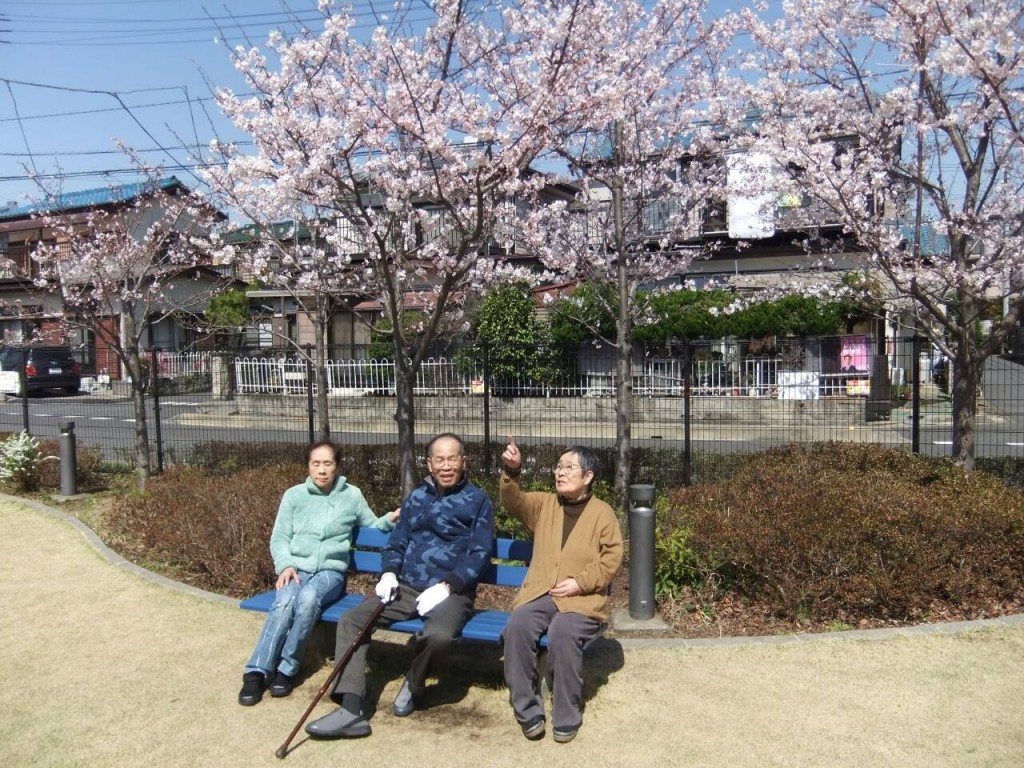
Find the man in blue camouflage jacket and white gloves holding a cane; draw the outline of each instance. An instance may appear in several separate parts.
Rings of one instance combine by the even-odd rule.
[[[377,627],[423,617],[423,631],[414,640],[412,667],[392,706],[397,717],[416,711],[416,697],[428,673],[438,669],[437,660],[469,621],[477,582],[490,560],[494,507],[490,498],[466,479],[466,466],[461,437],[445,432],[430,441],[430,476],[401,505],[401,516],[381,558],[376,595],[348,611],[338,624],[336,657],[344,654],[381,602],[385,608]],[[369,645],[368,634],[335,683],[331,697],[341,707],[307,725],[310,735],[370,735],[370,722],[362,714]]]

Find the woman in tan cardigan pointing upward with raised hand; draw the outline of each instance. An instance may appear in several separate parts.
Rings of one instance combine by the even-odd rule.
[[[514,437],[502,462],[502,504],[534,538],[534,558],[502,633],[505,682],[523,735],[543,738],[537,657],[538,640],[547,632],[551,722],[555,741],[564,743],[575,738],[583,722],[583,648],[607,621],[608,587],[623,562],[623,536],[611,507],[593,498],[598,462],[589,449],[573,446],[559,457],[556,494],[519,486],[522,455]]]

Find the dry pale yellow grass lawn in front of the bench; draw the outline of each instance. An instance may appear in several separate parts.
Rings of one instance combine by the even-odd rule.
[[[378,643],[374,735],[300,735],[282,763],[274,750],[327,670],[290,698],[239,707],[261,615],[148,582],[68,522],[9,500],[0,606],[4,766],[1024,765],[1024,627],[699,649],[609,643],[588,657],[584,727],[564,745],[523,739],[497,654],[455,659],[431,708],[394,718],[407,651]]]

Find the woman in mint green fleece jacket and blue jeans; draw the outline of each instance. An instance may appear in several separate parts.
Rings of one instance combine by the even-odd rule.
[[[333,442],[313,443],[306,454],[309,477],[281,499],[270,535],[278,594],[242,676],[243,707],[258,703],[264,687],[271,696],[292,692],[321,610],[345,592],[352,529],[391,530],[398,519],[398,510],[373,513],[362,493],[338,474],[340,456]]]

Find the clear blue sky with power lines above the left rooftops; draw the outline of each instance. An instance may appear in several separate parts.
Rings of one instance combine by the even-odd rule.
[[[369,27],[390,3],[354,5]],[[245,90],[215,39],[222,31],[232,45],[248,36],[263,46],[271,29],[313,25],[315,8],[315,0],[0,0],[0,205],[40,197],[26,168],[63,191],[137,180],[116,139],[195,185],[188,168],[172,168],[190,164],[180,147],[239,138],[207,84]]]

